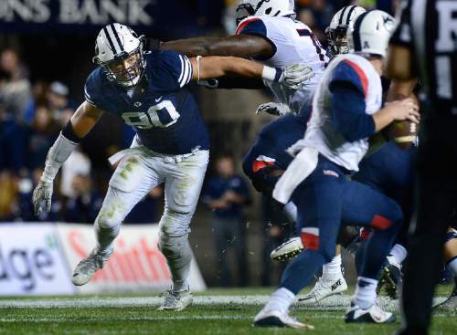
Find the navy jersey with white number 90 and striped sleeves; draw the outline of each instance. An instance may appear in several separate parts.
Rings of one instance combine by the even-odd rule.
[[[129,95],[105,76],[102,68],[90,73],[86,100],[132,126],[140,143],[154,152],[184,154],[209,149],[207,127],[188,89],[192,66],[175,51],[145,55],[142,83]]]

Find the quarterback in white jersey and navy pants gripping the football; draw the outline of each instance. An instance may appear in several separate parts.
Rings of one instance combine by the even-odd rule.
[[[402,224],[402,212],[387,196],[347,179],[358,170],[369,136],[393,120],[419,121],[418,106],[412,99],[381,109],[380,75],[393,29],[393,17],[382,11],[358,16],[354,31],[348,32],[356,54],[334,58],[324,72],[314,94],[308,129],[303,141],[295,145],[301,152],[273,191],[277,200],[286,203],[300,184],[296,190],[298,225],[305,249],[286,267],[279,288],[254,318],[256,326],[309,328],[292,319],[288,310],[314,273],[335,256],[341,222],[375,228],[362,253],[356,295],[345,320],[393,320],[391,313],[377,307],[377,276]]]

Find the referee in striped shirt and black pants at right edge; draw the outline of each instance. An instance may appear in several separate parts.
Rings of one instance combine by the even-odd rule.
[[[420,78],[426,99],[418,152],[418,218],[409,238],[409,258],[399,334],[427,334],[433,291],[439,281],[442,241],[457,204],[457,2],[409,0],[392,37],[387,74]],[[427,247],[424,247],[427,246]]]

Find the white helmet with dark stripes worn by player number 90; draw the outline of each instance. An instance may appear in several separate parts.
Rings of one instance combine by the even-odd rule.
[[[107,25],[97,36],[93,61],[104,69],[108,79],[131,89],[142,79],[146,66],[143,38],[138,37],[129,26],[119,23]],[[126,59],[130,59],[128,67],[124,64]]]

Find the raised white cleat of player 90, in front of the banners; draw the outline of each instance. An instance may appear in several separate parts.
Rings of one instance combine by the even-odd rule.
[[[84,258],[73,271],[71,281],[76,286],[87,284],[97,270],[103,267],[103,264],[112,256],[112,248],[99,252],[94,248],[87,258]]]

